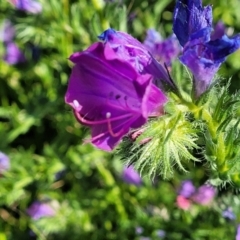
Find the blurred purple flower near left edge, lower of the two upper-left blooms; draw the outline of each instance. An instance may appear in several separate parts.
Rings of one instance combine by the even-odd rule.
[[[13,65],[25,61],[23,53],[14,42],[6,43],[5,51],[3,60],[8,64]]]

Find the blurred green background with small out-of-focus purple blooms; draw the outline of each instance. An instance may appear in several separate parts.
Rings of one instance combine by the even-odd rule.
[[[207,172],[197,164],[170,180],[140,178],[116,152],[84,144],[89,131],[64,103],[73,52],[110,26],[140,41],[149,28],[168,37],[175,1],[41,0],[35,10],[10,2],[0,0],[0,240],[235,239],[237,191],[199,191]],[[228,35],[240,32],[239,0],[203,2]],[[237,51],[219,72],[233,92],[239,70]],[[184,180],[195,186],[187,197]]]

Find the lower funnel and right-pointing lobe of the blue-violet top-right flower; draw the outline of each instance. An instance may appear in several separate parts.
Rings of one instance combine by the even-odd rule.
[[[228,38],[226,35],[206,43],[192,41],[184,47],[180,60],[194,75],[196,97],[207,90],[226,56],[239,47],[240,36]]]

